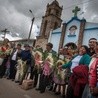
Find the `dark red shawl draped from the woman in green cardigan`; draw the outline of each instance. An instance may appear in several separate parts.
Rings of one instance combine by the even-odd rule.
[[[70,81],[75,96],[79,96],[81,87],[84,88],[88,83],[88,70],[88,67],[85,65],[79,65],[73,68],[73,74]]]

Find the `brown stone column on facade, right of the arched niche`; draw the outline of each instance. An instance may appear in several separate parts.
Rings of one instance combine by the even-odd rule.
[[[82,19],[81,24],[80,24],[79,37],[78,37],[78,45],[77,45],[78,47],[80,47],[82,45],[82,42],[83,42],[85,23],[86,23],[86,20]]]

